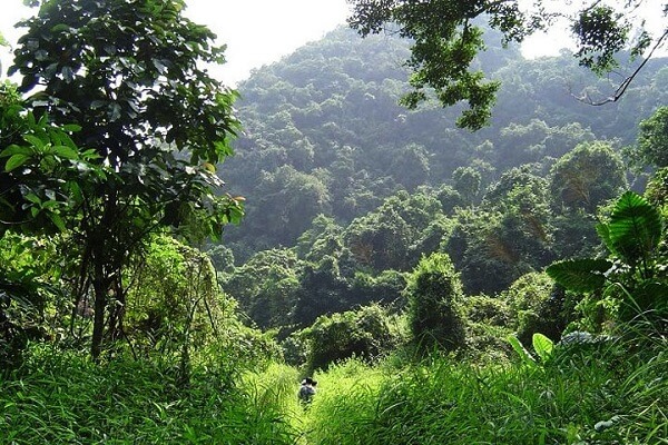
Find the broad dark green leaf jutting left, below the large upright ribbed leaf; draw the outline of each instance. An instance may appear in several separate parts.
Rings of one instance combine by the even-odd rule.
[[[606,284],[606,271],[612,263],[607,259],[570,259],[554,263],[546,269],[548,275],[569,290],[591,293]]]

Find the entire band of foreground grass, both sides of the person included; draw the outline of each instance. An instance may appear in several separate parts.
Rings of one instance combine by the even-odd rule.
[[[348,359],[314,375],[306,406],[303,376],[276,363],[233,377],[196,368],[184,386],[146,362],[32,349],[0,380],[0,443],[668,444],[667,346],[620,335],[537,366]]]

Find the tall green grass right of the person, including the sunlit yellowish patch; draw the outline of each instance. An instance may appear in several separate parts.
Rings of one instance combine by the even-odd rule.
[[[310,443],[668,444],[667,346],[620,337],[533,368],[438,356],[382,376],[357,368],[353,385],[318,395]]]

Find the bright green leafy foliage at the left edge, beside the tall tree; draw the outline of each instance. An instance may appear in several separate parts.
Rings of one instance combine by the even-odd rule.
[[[79,149],[77,125],[53,125],[26,109],[17,87],[0,85],[0,235],[65,231],[71,210],[84,205],[87,181],[104,180],[92,150]]]

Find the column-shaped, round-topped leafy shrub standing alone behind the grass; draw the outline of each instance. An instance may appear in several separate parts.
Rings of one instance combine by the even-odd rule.
[[[409,276],[409,326],[421,350],[464,345],[463,291],[459,274],[445,254],[423,257]]]

